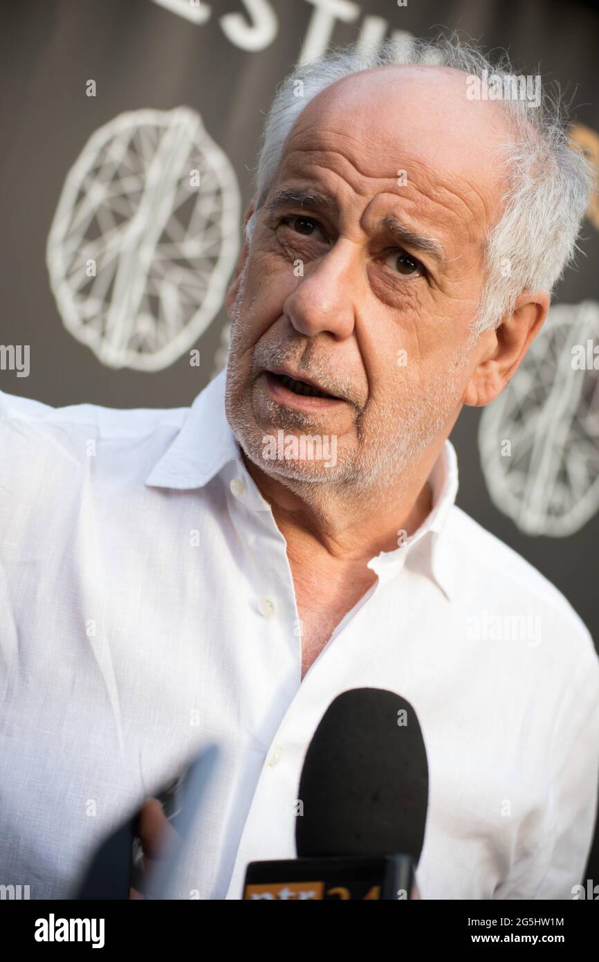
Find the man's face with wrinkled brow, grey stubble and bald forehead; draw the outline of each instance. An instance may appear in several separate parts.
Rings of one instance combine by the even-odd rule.
[[[500,114],[465,90],[454,71],[362,73],[288,137],[231,309],[227,416],[262,470],[366,488],[449,433],[502,187]]]

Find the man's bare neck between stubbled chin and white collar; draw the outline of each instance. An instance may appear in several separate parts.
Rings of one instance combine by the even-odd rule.
[[[292,481],[266,474],[244,454],[246,468],[288,546],[324,550],[331,558],[365,562],[398,546],[400,531],[410,537],[431,512],[428,477],[444,443],[427,449],[417,464],[391,484],[363,493],[332,491],[325,484]]]

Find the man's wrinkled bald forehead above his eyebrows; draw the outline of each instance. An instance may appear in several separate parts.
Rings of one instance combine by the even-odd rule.
[[[467,99],[465,74],[383,67],[314,97],[287,138],[276,180],[324,179],[341,202],[357,194],[383,211],[401,199],[427,207],[432,220],[465,217],[486,227],[505,190],[497,148],[509,136],[496,103]]]

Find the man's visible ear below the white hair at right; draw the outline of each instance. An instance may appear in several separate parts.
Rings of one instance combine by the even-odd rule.
[[[477,342],[481,355],[463,394],[463,404],[483,407],[500,394],[520,366],[531,342],[537,337],[549,311],[544,291],[523,291],[511,315],[498,328],[485,331]]]

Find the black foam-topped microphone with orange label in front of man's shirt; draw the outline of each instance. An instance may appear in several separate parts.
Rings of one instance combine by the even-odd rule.
[[[251,862],[243,899],[418,898],[428,794],[426,749],[410,702],[378,688],[344,692],[306,752],[298,858]]]

